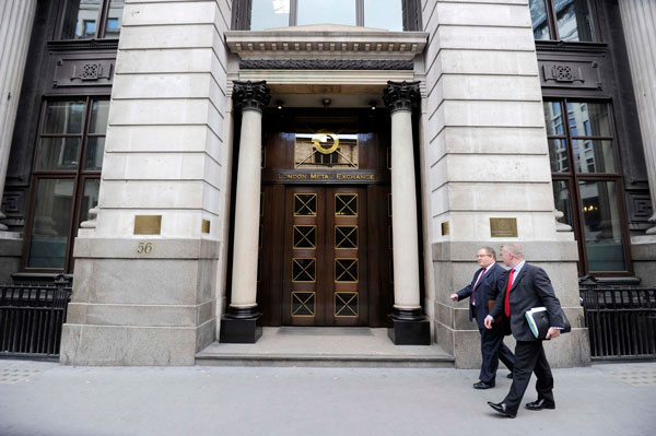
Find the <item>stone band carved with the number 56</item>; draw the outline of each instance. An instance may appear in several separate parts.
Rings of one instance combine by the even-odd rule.
[[[142,252],[140,244],[144,244]],[[145,252],[145,245],[151,251]],[[96,259],[218,259],[221,243],[209,239],[164,239],[153,236],[130,239],[75,238],[75,258]]]

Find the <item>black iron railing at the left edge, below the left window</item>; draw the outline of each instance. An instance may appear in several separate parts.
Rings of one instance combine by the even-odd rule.
[[[0,355],[58,356],[70,299],[63,275],[49,284],[0,285]]]

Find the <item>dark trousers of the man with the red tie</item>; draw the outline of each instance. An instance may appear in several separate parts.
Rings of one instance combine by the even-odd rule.
[[[538,378],[536,381],[538,400],[544,399],[553,402],[553,376],[547,356],[544,356],[542,341],[517,341],[513,385],[511,385],[511,391],[503,400],[508,410],[516,413],[519,409],[519,403],[522,403],[522,398],[526,392],[526,388],[528,388],[530,375],[534,372]]]

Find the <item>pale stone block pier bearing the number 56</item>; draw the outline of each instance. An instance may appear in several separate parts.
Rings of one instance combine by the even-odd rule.
[[[232,146],[222,33],[231,8],[126,1],[99,212],[75,240],[65,364],[192,365],[216,335]],[[160,234],[134,234],[136,215],[161,215]]]

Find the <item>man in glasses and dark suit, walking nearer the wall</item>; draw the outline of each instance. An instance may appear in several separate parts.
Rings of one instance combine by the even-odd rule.
[[[515,356],[503,343],[503,327],[485,329],[485,316],[488,316],[489,301],[496,299],[499,286],[505,270],[496,264],[496,254],[490,247],[482,247],[477,255],[478,264],[481,267],[475,274],[471,283],[450,295],[454,302],[469,297],[469,320],[476,319],[481,333],[481,373],[479,381],[473,384],[475,389],[490,389],[495,385],[499,360],[511,370],[515,366]]]

